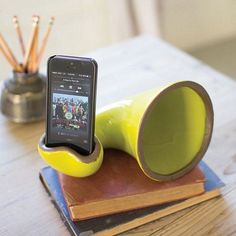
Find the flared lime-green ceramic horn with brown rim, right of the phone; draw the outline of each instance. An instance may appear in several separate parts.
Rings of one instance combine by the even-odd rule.
[[[211,100],[192,81],[127,98],[96,116],[96,135],[103,148],[129,153],[148,177],[160,181],[178,178],[197,165],[212,129]]]

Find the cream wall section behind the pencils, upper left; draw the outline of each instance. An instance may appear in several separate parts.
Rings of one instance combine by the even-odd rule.
[[[55,24],[42,61],[45,65],[52,54],[80,55],[131,37],[134,32],[129,22],[129,13],[124,7],[125,1],[119,0],[113,6],[115,0],[0,0],[0,32],[21,59],[12,24],[13,15],[19,17],[25,40],[30,34],[33,14],[41,16],[41,37],[50,17],[55,16]],[[10,71],[10,66],[0,55],[0,78],[6,78]]]

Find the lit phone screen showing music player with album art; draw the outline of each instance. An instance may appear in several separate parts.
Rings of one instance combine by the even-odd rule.
[[[91,75],[51,71],[51,137],[88,145]]]

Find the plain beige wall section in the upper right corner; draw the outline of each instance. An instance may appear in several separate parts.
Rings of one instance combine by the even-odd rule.
[[[161,33],[192,49],[236,36],[235,0],[161,0]]]

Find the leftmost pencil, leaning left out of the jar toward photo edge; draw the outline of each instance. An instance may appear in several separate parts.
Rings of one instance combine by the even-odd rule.
[[[0,33],[0,47],[3,55],[6,57],[7,61],[12,65],[15,71],[22,71],[22,67],[17,62],[15,56],[13,55],[11,49],[7,45],[7,42]]]

